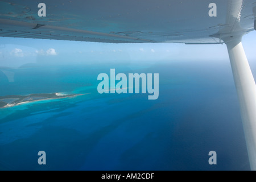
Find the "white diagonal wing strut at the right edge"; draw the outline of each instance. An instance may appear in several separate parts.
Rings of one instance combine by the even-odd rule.
[[[256,85],[242,46],[242,36],[225,39],[240,101],[251,170],[256,171]]]

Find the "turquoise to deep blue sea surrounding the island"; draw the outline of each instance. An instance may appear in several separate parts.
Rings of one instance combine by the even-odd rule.
[[[159,73],[159,98],[99,94],[97,76]],[[136,69],[135,69],[136,68]],[[1,71],[14,73],[9,82]],[[0,169],[247,170],[228,61],[34,66],[0,71],[0,96],[84,93],[0,109]],[[46,151],[44,166],[38,151]],[[217,152],[217,165],[208,163]]]

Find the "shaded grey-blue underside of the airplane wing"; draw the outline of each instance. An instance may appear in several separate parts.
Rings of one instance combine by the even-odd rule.
[[[105,43],[220,44],[254,30],[256,0],[0,1],[0,36]],[[210,3],[216,15],[209,16]]]

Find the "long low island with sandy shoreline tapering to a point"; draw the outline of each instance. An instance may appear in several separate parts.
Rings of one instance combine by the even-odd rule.
[[[0,109],[6,107],[13,107],[20,104],[26,104],[35,101],[53,100],[59,98],[76,97],[83,94],[61,94],[61,93],[38,93],[27,96],[0,96]]]

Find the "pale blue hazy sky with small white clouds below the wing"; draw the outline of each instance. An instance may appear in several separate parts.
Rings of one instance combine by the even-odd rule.
[[[256,31],[243,36],[252,69],[256,69]],[[223,45],[112,44],[0,37],[0,67],[26,64],[88,64],[94,62],[222,61],[229,60]]]

